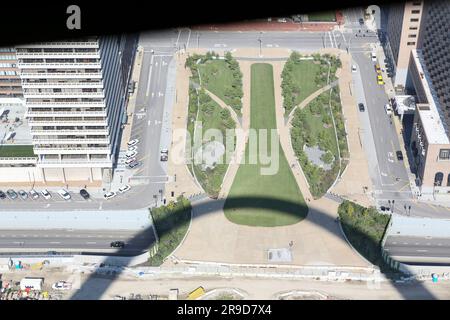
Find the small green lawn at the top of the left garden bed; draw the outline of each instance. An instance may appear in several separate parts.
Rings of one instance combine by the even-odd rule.
[[[206,89],[218,96],[223,102],[231,106],[240,115],[240,106],[235,106],[236,101],[230,89],[233,87],[233,71],[225,60],[209,60],[198,66],[201,84]]]

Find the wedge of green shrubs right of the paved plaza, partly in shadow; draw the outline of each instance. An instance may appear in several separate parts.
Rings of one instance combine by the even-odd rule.
[[[338,208],[339,219],[345,236],[352,246],[367,260],[377,265],[381,272],[396,272],[383,260],[381,241],[390,220],[373,207],[365,208],[345,200]]]

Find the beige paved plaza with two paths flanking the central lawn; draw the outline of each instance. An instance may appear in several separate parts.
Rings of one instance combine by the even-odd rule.
[[[239,50],[236,55],[249,55],[250,50]],[[269,51],[267,51],[269,52]],[[274,54],[278,54],[274,52]],[[250,85],[249,61],[239,62],[243,73],[243,129],[249,128]],[[281,96],[281,71],[283,62],[272,62],[277,126],[280,141],[293,173],[305,199],[312,199],[308,184],[290,146],[289,130],[284,125]],[[178,75],[180,78],[182,75]],[[184,75],[187,76],[187,75]],[[181,80],[180,80],[181,81]],[[187,90],[187,89],[186,89]],[[185,123],[184,121],[182,121]],[[245,139],[243,139],[245,140]],[[237,158],[245,150],[245,141],[238,143]],[[239,158],[240,159],[240,158]],[[239,160],[238,159],[238,160]],[[174,253],[182,260],[267,264],[267,251],[273,248],[289,248],[294,245],[292,264],[295,265],[345,265],[367,266],[366,261],[354,252],[343,238],[335,219],[338,204],[329,199],[308,202],[308,217],[300,223],[284,227],[248,227],[234,224],[225,217],[223,204],[231,188],[239,161],[230,165],[229,172],[216,201],[203,200],[203,205],[194,207],[193,222],[183,245]],[[168,261],[167,264],[171,262]]]

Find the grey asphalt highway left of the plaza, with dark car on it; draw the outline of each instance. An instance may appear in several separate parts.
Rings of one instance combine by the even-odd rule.
[[[111,248],[112,241],[124,241],[124,248]],[[138,254],[154,241],[152,232],[83,230],[0,230],[0,247],[10,252],[47,252],[61,249]]]

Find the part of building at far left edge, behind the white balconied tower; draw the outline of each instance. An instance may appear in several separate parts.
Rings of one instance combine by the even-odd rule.
[[[0,97],[22,97],[16,50],[14,48],[0,48]]]

